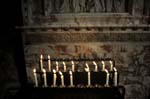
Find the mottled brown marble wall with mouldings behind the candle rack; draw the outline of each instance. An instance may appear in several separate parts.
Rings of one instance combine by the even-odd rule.
[[[27,17],[24,16],[28,25],[22,27],[29,83],[33,80],[32,69],[39,67],[40,54],[45,58],[47,54],[52,58],[108,57],[116,62],[120,72],[119,84],[126,88],[126,99],[148,99],[150,28],[149,17],[143,16],[143,12],[148,11],[148,6],[143,7],[147,0],[132,0],[134,5],[122,0],[131,5],[126,6],[127,9],[121,11],[123,13],[81,11],[47,14],[46,11],[51,9],[46,7],[44,16],[42,11],[38,16],[32,13],[30,4],[34,3],[31,1],[28,2],[28,10],[24,11],[24,14],[28,13]],[[146,15],[148,13],[145,12]]]

